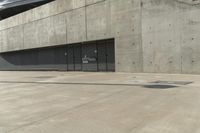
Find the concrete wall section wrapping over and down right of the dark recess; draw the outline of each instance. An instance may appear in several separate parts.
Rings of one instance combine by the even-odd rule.
[[[0,52],[115,38],[116,71],[142,71],[140,0],[56,0],[0,21]]]

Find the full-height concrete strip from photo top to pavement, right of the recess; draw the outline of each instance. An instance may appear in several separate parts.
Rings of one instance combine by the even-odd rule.
[[[140,0],[110,0],[111,36],[116,41],[116,69],[142,71]]]

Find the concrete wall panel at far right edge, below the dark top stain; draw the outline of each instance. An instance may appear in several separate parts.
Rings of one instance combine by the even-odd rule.
[[[182,10],[182,72],[200,74],[200,9]]]

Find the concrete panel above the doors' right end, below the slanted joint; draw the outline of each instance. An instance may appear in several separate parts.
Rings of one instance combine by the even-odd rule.
[[[87,6],[87,39],[97,40],[110,37],[109,2]]]

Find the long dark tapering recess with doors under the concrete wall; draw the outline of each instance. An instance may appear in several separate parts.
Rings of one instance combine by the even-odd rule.
[[[0,70],[115,71],[114,39],[1,53]]]

